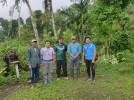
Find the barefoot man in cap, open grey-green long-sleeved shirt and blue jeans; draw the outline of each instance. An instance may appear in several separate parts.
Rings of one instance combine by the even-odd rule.
[[[28,61],[30,76],[31,76],[31,83],[32,83],[31,89],[33,89],[34,79],[35,79],[36,86],[40,86],[38,84],[39,68],[40,66],[42,66],[42,64],[41,64],[40,49],[36,47],[37,41],[32,40],[31,43],[32,43],[32,46],[27,49],[27,61]]]

